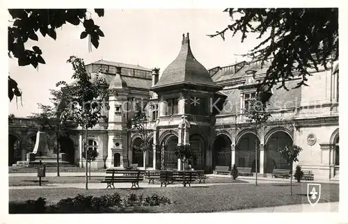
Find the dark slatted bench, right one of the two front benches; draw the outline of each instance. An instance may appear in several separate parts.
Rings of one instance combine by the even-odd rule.
[[[196,181],[197,173],[195,170],[193,171],[160,171],[159,181],[161,182],[161,186],[167,186],[167,184],[173,184],[173,182],[179,182],[180,184],[186,186],[189,184],[191,186],[191,182]]]

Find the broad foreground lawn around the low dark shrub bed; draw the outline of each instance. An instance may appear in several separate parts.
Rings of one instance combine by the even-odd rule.
[[[211,212],[231,211],[255,207],[294,205],[308,203],[307,184],[295,183],[294,195],[290,195],[289,184],[223,184],[200,187],[167,187],[147,189],[13,189],[9,190],[11,202],[46,198],[48,204],[55,204],[62,198],[73,198],[77,194],[104,195],[118,192],[121,197],[128,193],[144,196],[157,193],[169,198],[173,204],[160,205],[134,212]],[[319,202],[338,202],[339,184],[322,184]],[[132,212],[132,211],[129,211]]]

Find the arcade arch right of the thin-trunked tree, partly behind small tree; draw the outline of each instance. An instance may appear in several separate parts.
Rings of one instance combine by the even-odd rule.
[[[264,173],[271,173],[274,169],[289,170],[290,165],[279,153],[279,149],[293,144],[292,135],[286,129],[271,129],[265,137],[264,144]]]

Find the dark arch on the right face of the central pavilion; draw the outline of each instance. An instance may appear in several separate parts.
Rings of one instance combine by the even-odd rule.
[[[191,164],[192,168],[195,170],[205,170],[207,140],[200,134],[192,134],[189,136],[189,143],[196,157],[189,160],[188,163]]]

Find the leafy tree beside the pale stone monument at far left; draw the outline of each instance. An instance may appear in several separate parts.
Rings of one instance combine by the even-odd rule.
[[[38,104],[40,113],[32,113],[29,118],[38,120],[41,129],[47,133],[47,145],[53,148],[57,157],[57,177],[59,177],[59,139],[63,136],[70,136],[75,131],[74,124],[68,116],[62,116],[63,109],[68,106],[66,97],[61,90],[50,90],[52,105]]]

